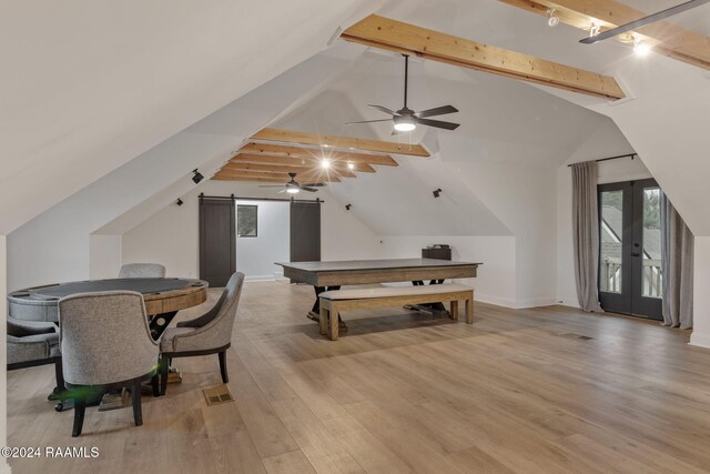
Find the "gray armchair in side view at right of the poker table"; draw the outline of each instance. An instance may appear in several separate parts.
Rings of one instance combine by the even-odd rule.
[[[232,329],[242,293],[244,273],[234,273],[217,303],[204,315],[169,327],[160,341],[161,394],[168,387],[168,367],[174,357],[217,354],[222,382],[227,383],[226,350],[232,344]]]

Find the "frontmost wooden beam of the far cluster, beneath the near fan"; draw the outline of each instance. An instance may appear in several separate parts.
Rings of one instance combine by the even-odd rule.
[[[252,137],[252,139],[318,145],[336,150],[344,149],[372,151],[377,153],[407,154],[413,157],[429,157],[429,152],[420,144],[384,142],[379,140],[357,139],[352,137],[322,135],[318,133],[295,132],[291,130],[263,129]]]

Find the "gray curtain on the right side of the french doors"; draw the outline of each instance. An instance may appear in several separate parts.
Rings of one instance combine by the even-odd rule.
[[[663,325],[692,327],[693,235],[673,204],[661,194]]]

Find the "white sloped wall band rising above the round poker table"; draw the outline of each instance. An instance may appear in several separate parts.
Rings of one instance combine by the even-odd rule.
[[[191,170],[209,178],[246,137],[347,64],[312,58],[32,219],[8,238],[9,288],[89,278],[91,233],[120,235],[174,202],[194,188]]]

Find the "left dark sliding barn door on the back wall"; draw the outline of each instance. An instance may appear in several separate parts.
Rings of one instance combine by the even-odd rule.
[[[221,288],[236,271],[233,199],[200,199],[200,278]]]

